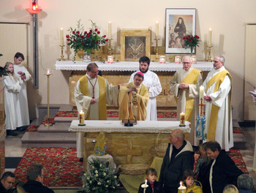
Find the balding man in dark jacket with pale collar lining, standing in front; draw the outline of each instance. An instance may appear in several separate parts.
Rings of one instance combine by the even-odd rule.
[[[184,140],[184,132],[175,129],[170,133],[170,143],[162,162],[159,182],[164,193],[178,192],[178,186],[185,170],[193,170],[194,151],[189,141]]]

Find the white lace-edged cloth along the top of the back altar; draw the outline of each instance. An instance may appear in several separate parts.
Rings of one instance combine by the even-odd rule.
[[[99,66],[99,70],[102,71],[131,71],[135,72],[139,69],[138,61],[115,61],[113,64],[108,64],[106,61],[91,61],[95,62]],[[91,62],[83,61],[56,61],[55,67],[59,70],[86,70],[86,67]],[[201,71],[211,71],[213,68],[212,62],[198,61],[197,64],[192,64],[192,67]],[[150,70],[158,72],[176,72],[182,68],[182,64],[175,64],[167,62],[166,64],[160,64],[159,62],[151,61]]]

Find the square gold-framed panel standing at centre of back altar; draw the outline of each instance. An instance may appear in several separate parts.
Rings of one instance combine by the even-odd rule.
[[[121,61],[139,61],[150,57],[151,31],[121,30]]]

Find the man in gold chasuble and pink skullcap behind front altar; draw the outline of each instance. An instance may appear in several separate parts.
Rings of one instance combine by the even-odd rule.
[[[120,86],[118,94],[119,120],[146,121],[148,89],[143,85],[144,75],[137,72],[133,82]]]

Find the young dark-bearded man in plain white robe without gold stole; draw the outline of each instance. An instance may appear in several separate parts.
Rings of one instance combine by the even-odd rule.
[[[143,85],[148,88],[149,101],[147,105],[147,118],[146,121],[157,121],[157,95],[162,92],[162,86],[159,80],[159,77],[156,73],[151,72],[148,67],[150,64],[150,59],[146,56],[143,56],[139,60],[140,71],[144,74]],[[129,83],[133,82],[133,77],[137,72],[134,72],[130,79]]]

